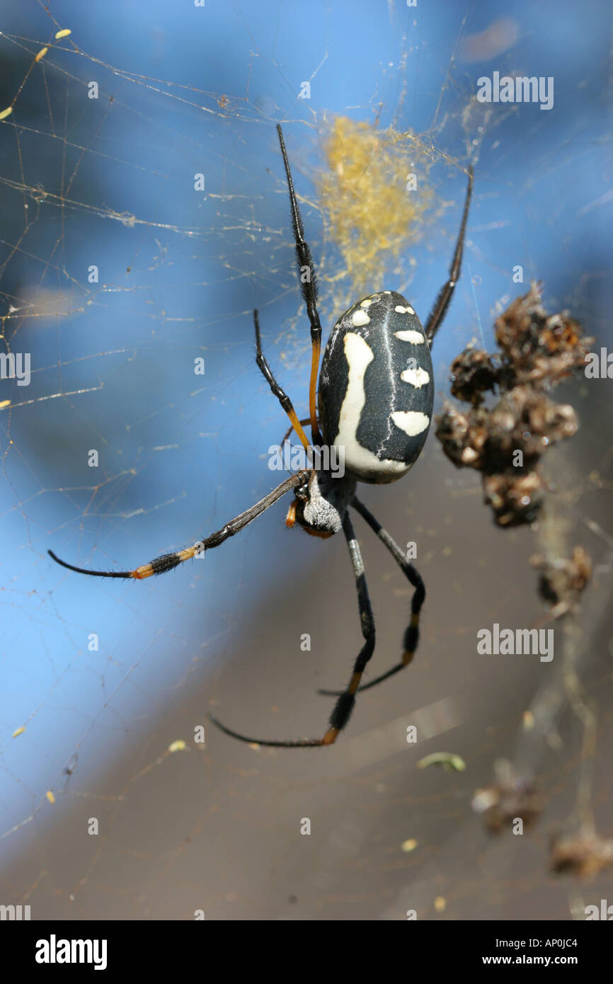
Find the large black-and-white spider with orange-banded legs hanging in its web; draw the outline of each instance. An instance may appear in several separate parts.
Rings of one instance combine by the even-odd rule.
[[[419,613],[425,598],[425,586],[412,564],[408,563],[398,544],[357,498],[358,482],[381,484],[397,481],[406,474],[419,457],[424,446],[434,402],[434,383],[430,347],[440,328],[454,288],[460,277],[461,255],[472,193],[472,167],[468,168],[468,185],[461,216],[460,233],[450,269],[449,279],[439,291],[425,329],[410,304],[393,290],[371,294],[348,308],[332,330],[321,373],[320,348],[322,326],[317,311],[317,280],[311,251],[304,238],[302,217],[294,192],[289,160],[283,134],[276,127],[283,158],[291,224],[296,247],[296,260],[301,290],[311,326],[311,377],[309,384],[309,416],[299,420],[289,397],[276,382],[262,351],[260,319],[254,311],[256,361],[273,394],[289,417],[307,455],[322,443],[344,452],[342,477],[330,470],[309,467],[291,474],[263,499],[240,516],[225,523],[215,533],[191,547],[175,553],[162,554],[149,564],[133,571],[89,571],[60,560],[53,551],[50,556],[62,567],[94,578],[132,578],[141,581],[152,575],[165,574],[186,560],[220,546],[269,509],[277,499],[293,491],[285,523],[296,523],[314,536],[329,537],[342,530],[347,543],[360,616],[364,644],[344,691],[320,691],[337,698],[330,723],[323,738],[299,741],[275,741],[248,738],[226,727],[215,717],[210,719],[221,731],[249,744],[273,748],[321,748],[332,745],[344,728],[355,705],[356,694],[389,679],[410,663],[419,638]],[[410,366],[410,368],[407,368]],[[319,409],[319,417],[318,417]],[[312,442],[303,430],[310,425]],[[310,462],[310,459],[309,459]],[[354,509],[388,548],[403,575],[413,587],[411,616],[404,632],[400,661],[381,676],[361,684],[362,674],[375,648],[375,621],[364,575],[364,565],[349,507]]]

